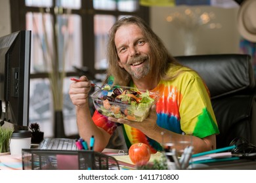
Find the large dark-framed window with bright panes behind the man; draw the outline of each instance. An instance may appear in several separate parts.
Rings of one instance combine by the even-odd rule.
[[[12,32],[32,30],[30,123],[39,123],[45,137],[56,136],[53,112],[58,108],[53,105],[49,73],[61,77],[64,69],[63,91],[57,87],[55,95],[63,95],[66,136],[77,135],[75,107],[68,95],[70,77],[87,75],[102,82],[108,67],[108,30],[127,15],[148,22],[148,7],[141,7],[139,0],[11,0]]]

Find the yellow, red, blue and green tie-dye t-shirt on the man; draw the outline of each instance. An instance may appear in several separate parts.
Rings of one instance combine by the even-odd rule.
[[[175,66],[176,67],[176,66]],[[170,69],[169,73],[179,72],[173,80],[160,80],[152,92],[160,93],[156,103],[157,124],[175,133],[192,134],[199,138],[218,134],[219,129],[211,106],[209,91],[202,78],[186,67]],[[131,84],[131,87],[135,87]],[[117,124],[107,120],[105,116],[95,111],[93,120],[96,125],[112,134]],[[137,142],[148,144],[152,152],[161,150],[161,145],[150,139],[144,133],[123,125],[123,133],[127,147]]]

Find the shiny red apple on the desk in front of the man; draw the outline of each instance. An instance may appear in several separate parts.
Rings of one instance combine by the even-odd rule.
[[[137,143],[129,148],[129,157],[137,166],[146,165],[150,160],[151,152],[147,144]]]

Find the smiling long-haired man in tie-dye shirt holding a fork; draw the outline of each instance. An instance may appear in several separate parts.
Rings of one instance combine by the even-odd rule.
[[[102,116],[91,117],[88,102],[90,81],[70,85],[76,106],[79,135],[95,137],[95,150],[102,151],[118,124],[123,125],[127,146],[144,142],[152,153],[165,142],[190,141],[194,153],[216,148],[219,133],[209,92],[198,74],[177,63],[159,37],[137,17],[122,18],[110,30],[106,82],[160,93],[160,99],[143,122]],[[175,148],[182,148],[175,143]],[[183,147],[184,148],[184,147]]]

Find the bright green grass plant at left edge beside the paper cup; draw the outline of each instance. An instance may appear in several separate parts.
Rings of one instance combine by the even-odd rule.
[[[0,127],[0,154],[10,153],[10,139],[14,130],[10,127]]]

